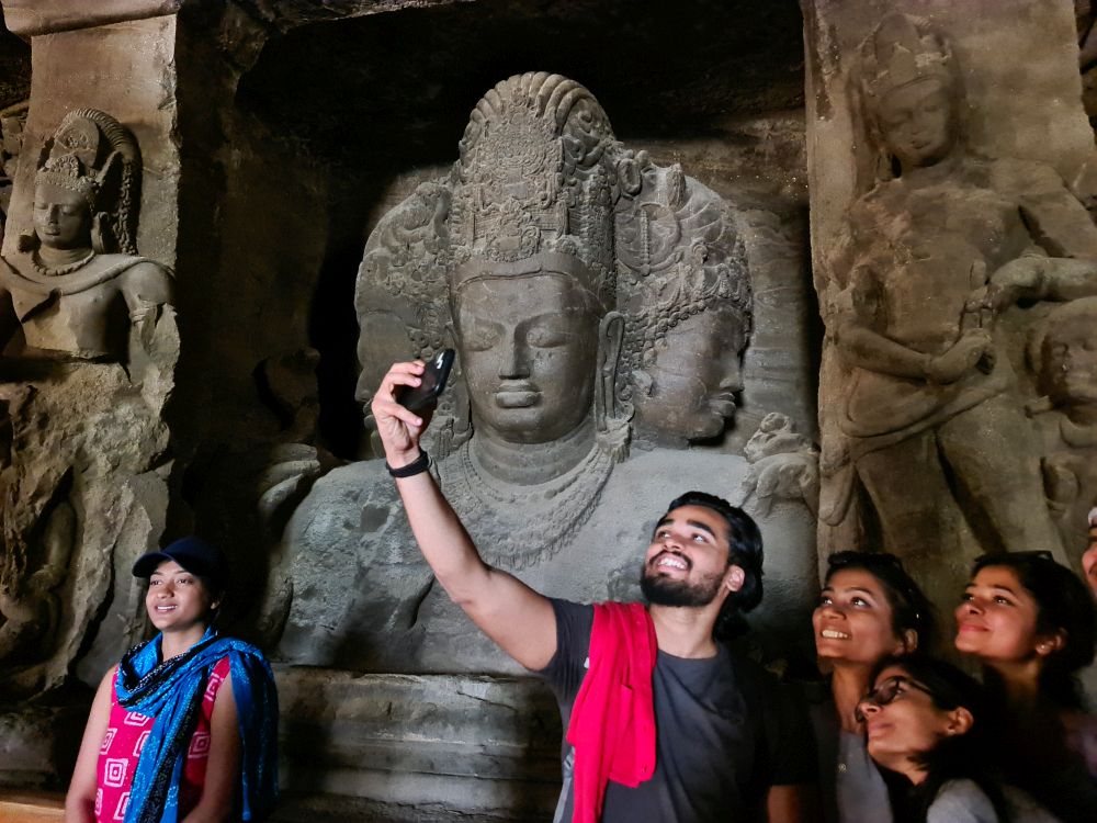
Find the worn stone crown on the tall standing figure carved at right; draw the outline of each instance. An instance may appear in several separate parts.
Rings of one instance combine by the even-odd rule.
[[[920,80],[954,80],[948,43],[927,21],[908,14],[880,21],[861,45],[861,58],[862,88],[877,99]]]

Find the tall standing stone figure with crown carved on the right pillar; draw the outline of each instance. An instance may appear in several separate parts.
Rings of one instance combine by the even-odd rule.
[[[840,522],[860,486],[883,548],[949,579],[964,552],[1059,553],[995,320],[1018,300],[1092,293],[1097,229],[1050,168],[965,149],[951,48],[923,21],[880,23],[860,91],[879,181],[821,290],[844,374],[822,409],[822,516]]]

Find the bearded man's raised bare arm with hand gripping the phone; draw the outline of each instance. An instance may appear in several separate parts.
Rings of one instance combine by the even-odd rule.
[[[419,385],[422,362],[396,363],[370,404],[385,460],[393,469],[421,454],[419,438],[429,422],[396,403],[397,386]],[[423,557],[450,598],[502,651],[529,669],[548,665],[556,653],[552,604],[524,583],[487,565],[429,472],[396,480],[408,522]]]

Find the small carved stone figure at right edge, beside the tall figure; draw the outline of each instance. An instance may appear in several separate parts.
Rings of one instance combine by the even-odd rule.
[[[1053,309],[1033,329],[1029,362],[1043,393],[1032,410],[1044,488],[1074,560],[1086,549],[1086,515],[1097,504],[1097,297]]]

